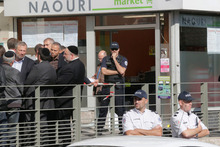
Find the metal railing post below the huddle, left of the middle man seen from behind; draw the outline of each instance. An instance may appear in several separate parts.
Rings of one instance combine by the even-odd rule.
[[[35,89],[35,98],[36,146],[40,146],[40,86]]]

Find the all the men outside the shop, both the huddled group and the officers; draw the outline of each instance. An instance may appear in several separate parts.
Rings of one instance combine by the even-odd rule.
[[[3,63],[0,66],[0,83],[6,88],[0,88],[1,110],[0,123],[17,123],[19,121],[19,109],[34,109],[35,89],[34,85],[62,85],[62,84],[83,84],[86,81],[84,64],[79,60],[78,48],[69,46],[62,50],[61,45],[52,38],[44,40],[43,45],[36,47],[37,62],[26,55],[27,44],[15,38],[8,40],[8,49],[3,55]],[[128,66],[128,60],[119,54],[120,48],[117,42],[110,45],[110,55],[100,51],[98,58],[100,65],[97,73],[93,76],[96,87],[95,93],[103,106],[99,111],[98,131],[102,132],[108,112],[107,106],[111,97],[110,85],[98,85],[96,83],[114,83],[115,87],[115,109],[119,116],[120,133],[126,135],[162,135],[162,121],[158,114],[146,109],[148,102],[146,92],[138,90],[134,94],[135,108],[125,113],[124,110],[124,76]],[[89,82],[90,83],[90,82]],[[18,86],[30,85],[30,86]],[[8,87],[10,86],[10,87]],[[51,86],[40,88],[40,97],[62,96],[58,99],[42,99],[41,109],[72,108],[72,86],[58,86],[55,89]],[[25,98],[24,98],[25,96]],[[19,99],[23,97],[22,99]],[[31,98],[32,97],[32,98]],[[66,97],[66,98],[65,98]],[[3,101],[4,100],[4,101]],[[209,134],[208,129],[200,119],[191,113],[192,97],[189,93],[183,92],[179,95],[180,110],[171,119],[172,133],[175,137],[195,138]],[[54,111],[42,111],[41,120],[53,119],[66,120],[72,116],[71,109],[59,110],[56,115]],[[125,113],[125,114],[124,114]],[[34,113],[25,112],[20,118],[21,121],[34,121]],[[52,116],[52,117],[51,117]],[[53,116],[56,116],[53,117]],[[123,120],[122,120],[123,118]]]

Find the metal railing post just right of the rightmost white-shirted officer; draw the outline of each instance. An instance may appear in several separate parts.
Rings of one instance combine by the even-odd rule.
[[[208,84],[201,83],[201,112],[202,122],[208,126]]]

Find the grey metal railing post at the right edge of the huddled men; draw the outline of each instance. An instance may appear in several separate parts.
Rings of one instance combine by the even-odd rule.
[[[75,140],[81,140],[81,85],[73,87],[73,117],[72,122],[75,122]],[[71,124],[71,128],[73,124]],[[71,133],[72,134],[72,133]]]

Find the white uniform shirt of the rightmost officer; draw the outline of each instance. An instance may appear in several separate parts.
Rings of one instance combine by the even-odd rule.
[[[182,109],[176,111],[176,113],[171,117],[170,124],[172,129],[172,136],[182,138],[182,132],[187,129],[195,129],[199,123],[200,119],[197,115],[192,112],[185,112]],[[202,129],[205,130],[207,127],[200,122]]]

